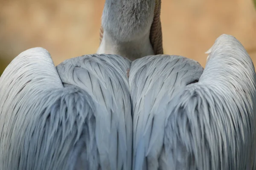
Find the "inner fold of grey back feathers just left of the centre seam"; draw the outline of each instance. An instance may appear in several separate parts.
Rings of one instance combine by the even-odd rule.
[[[126,71],[131,63],[117,55],[93,54],[68,59],[57,66],[65,87],[75,85],[87,91],[107,110],[102,116],[99,150],[102,160],[108,160],[107,169],[131,169],[132,120],[131,100]],[[99,115],[101,116],[101,115]]]

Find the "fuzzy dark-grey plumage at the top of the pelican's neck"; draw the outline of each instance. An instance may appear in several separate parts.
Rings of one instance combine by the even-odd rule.
[[[155,0],[106,0],[102,26],[114,40],[129,42],[151,27]]]

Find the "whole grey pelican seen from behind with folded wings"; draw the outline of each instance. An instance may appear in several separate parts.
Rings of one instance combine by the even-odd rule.
[[[250,56],[226,34],[205,69],[163,55],[160,3],[106,0],[98,54],[13,59],[0,77],[0,170],[256,168]]]

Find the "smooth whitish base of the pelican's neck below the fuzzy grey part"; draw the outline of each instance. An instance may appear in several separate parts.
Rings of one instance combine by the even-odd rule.
[[[114,37],[111,37],[110,34],[105,31],[97,53],[117,54],[131,60],[148,55],[154,55],[154,51],[149,40],[149,34],[150,31],[134,40],[120,42],[115,40]]]

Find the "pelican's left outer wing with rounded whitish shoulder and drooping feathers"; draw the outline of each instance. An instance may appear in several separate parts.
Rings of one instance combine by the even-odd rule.
[[[10,63],[0,94],[1,170],[111,169],[109,111],[78,86],[64,88],[45,49],[24,51]]]

